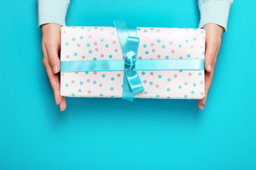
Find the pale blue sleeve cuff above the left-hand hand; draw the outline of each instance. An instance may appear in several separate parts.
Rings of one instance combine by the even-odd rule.
[[[38,26],[58,23],[65,26],[65,16],[70,0],[38,0]]]

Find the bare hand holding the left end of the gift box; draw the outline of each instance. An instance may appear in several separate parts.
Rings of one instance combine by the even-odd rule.
[[[60,81],[58,72],[60,72],[60,59],[58,52],[60,51],[60,25],[57,23],[46,23],[42,26],[42,51],[43,65],[50,84],[53,88],[56,105],[60,106],[60,111],[66,108],[65,97],[60,96]]]

